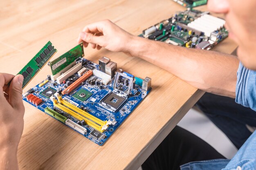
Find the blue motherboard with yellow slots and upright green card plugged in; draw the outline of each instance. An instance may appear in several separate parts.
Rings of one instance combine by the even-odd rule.
[[[23,100],[102,146],[148,95],[151,78],[117,69],[107,57],[97,64],[83,56],[81,43],[49,62],[52,75]]]

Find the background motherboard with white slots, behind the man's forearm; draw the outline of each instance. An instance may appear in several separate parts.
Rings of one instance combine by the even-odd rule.
[[[175,46],[210,50],[228,37],[225,20],[193,9],[178,12],[143,31],[139,37]]]

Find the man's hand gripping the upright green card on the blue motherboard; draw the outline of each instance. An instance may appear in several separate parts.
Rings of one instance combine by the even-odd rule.
[[[110,20],[103,20],[85,26],[78,43],[83,41],[84,47],[91,43],[92,48],[98,50],[104,47],[110,51],[130,54],[131,40],[134,37]]]

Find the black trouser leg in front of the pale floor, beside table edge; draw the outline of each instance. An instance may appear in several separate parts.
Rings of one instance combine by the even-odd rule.
[[[143,170],[179,170],[192,161],[225,159],[207,142],[176,126],[142,164]]]

